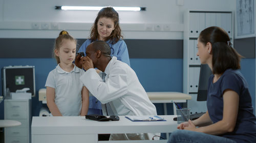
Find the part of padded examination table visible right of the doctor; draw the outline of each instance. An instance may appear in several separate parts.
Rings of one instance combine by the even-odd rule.
[[[192,99],[190,95],[180,92],[147,92],[147,96],[152,103],[163,103],[164,115],[167,115],[166,103],[185,103],[186,100]],[[174,115],[177,115],[175,105],[173,109]]]

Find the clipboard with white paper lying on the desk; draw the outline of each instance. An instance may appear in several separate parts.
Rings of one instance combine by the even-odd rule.
[[[166,121],[159,116],[125,116],[131,121]]]

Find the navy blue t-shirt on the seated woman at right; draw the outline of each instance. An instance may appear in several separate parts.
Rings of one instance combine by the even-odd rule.
[[[213,83],[214,75],[209,77],[207,110],[212,122],[216,123],[223,118],[223,92],[232,90],[239,95],[239,109],[236,127],[233,132],[220,136],[236,140],[238,143],[256,142],[256,118],[253,115],[251,96],[248,84],[239,70],[226,70]]]

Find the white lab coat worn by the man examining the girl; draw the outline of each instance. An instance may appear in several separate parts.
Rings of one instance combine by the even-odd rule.
[[[148,99],[148,96],[139,82],[134,70],[127,64],[117,60],[113,56],[106,66],[105,82],[102,81],[95,69],[89,69],[84,73],[80,80],[87,89],[102,104],[110,103],[111,109],[118,116],[126,115],[157,115],[155,105]],[[106,115],[106,108],[102,105],[103,114]],[[116,134],[115,134],[116,135]],[[145,135],[145,134],[144,134]],[[152,139],[154,134],[148,134]],[[114,135],[112,135],[113,137]],[[113,137],[114,139],[148,139],[148,137],[135,137],[134,134],[126,134],[124,137]],[[110,139],[113,139],[113,138]]]

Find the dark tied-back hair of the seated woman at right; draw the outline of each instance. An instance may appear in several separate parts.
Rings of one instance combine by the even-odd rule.
[[[206,45],[212,45],[212,73],[223,74],[227,69],[240,69],[242,56],[232,48],[228,34],[220,27],[212,26],[203,30],[199,35],[199,41]]]

